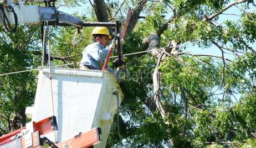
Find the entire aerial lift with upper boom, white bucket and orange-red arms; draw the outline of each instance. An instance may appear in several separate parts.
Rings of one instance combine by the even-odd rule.
[[[96,27],[96,26],[104,26],[104,27],[116,27],[116,34],[118,34],[117,38],[117,47],[118,47],[118,54],[119,54],[119,60],[115,61],[115,67],[122,66],[122,44],[121,44],[121,22],[120,20],[117,20],[115,23],[112,22],[86,22],[84,23],[80,18],[74,17],[73,15],[69,15],[63,12],[60,12],[55,8],[55,1],[54,0],[36,0],[39,2],[44,2],[45,7],[39,7],[39,6],[33,6],[33,5],[26,5],[29,0],[22,1],[22,0],[0,0],[0,25],[6,27],[6,29],[10,32],[15,32],[17,28],[17,24],[28,24],[28,25],[41,25],[41,31],[42,26],[44,26],[47,22],[48,25],[56,25],[56,26],[73,26],[75,28],[78,28],[78,31],[82,29],[83,27]],[[15,25],[14,28],[11,27],[11,25]],[[43,49],[44,50],[44,49]],[[51,71],[51,70],[50,70]],[[45,68],[41,68],[41,73],[39,76],[42,78],[39,78],[39,82],[41,83],[41,86],[38,86],[37,88],[37,94],[35,97],[35,101],[38,103],[34,105],[34,113],[33,116],[36,121],[32,121],[26,125],[26,127],[23,127],[22,129],[19,129],[17,131],[14,131],[13,133],[9,133],[7,135],[4,135],[0,137],[0,147],[6,148],[6,147],[41,147],[42,146],[42,140],[46,143],[48,143],[49,147],[90,147],[95,144],[98,144],[101,142],[101,127],[98,128],[96,125],[99,126],[106,126],[103,128],[104,132],[107,132],[110,130],[110,126],[112,123],[112,120],[114,119],[114,114],[116,112],[116,101],[112,99],[113,94],[110,91],[118,91],[120,94],[120,98],[123,98],[123,94],[120,90],[120,87],[116,83],[116,80],[114,77],[112,77],[107,72],[93,72],[93,71],[81,71],[81,70],[70,70],[70,68],[63,68],[63,69],[54,69],[52,71],[55,71],[57,74],[56,76],[53,76],[50,78],[50,81],[53,80],[53,82],[56,82],[59,84],[60,82],[66,82],[70,83],[71,85],[74,83],[75,87],[78,87],[78,84],[80,86],[86,86],[89,88],[88,94],[94,91],[90,91],[90,82],[92,84],[96,84],[97,86],[97,93],[92,93],[90,97],[83,98],[83,96],[76,96],[76,98],[80,99],[81,101],[83,99],[90,100],[91,98],[94,98],[94,104],[92,105],[88,104],[88,107],[93,109],[92,113],[94,113],[95,117],[91,117],[93,114],[89,114],[89,117],[86,117],[86,119],[90,119],[90,121],[86,121],[86,128],[91,127],[88,129],[88,131],[85,131],[85,133],[79,133],[73,137],[70,137],[70,139],[65,139],[64,141],[58,141],[58,144],[53,144],[49,139],[44,137],[44,135],[47,135],[50,133],[50,131],[57,130],[57,121],[58,118],[64,118],[64,115],[58,114],[58,116],[55,118],[45,118],[44,113],[42,113],[42,110],[39,109],[40,104],[45,103],[49,105],[47,102],[42,102],[43,99],[45,99],[45,96],[48,95],[42,95],[45,93],[45,90],[40,90],[38,92],[38,89],[42,86],[45,86],[46,79],[49,80],[48,75],[45,74]],[[59,72],[60,71],[60,72]],[[53,72],[53,73],[55,73]],[[47,72],[46,72],[47,73]],[[70,73],[75,73],[77,75],[75,78],[77,80],[69,80]],[[65,78],[63,79],[63,77]],[[74,77],[72,78],[74,79]],[[44,81],[41,81],[44,80]],[[49,82],[46,82],[49,83]],[[52,83],[52,82],[51,82]],[[110,84],[111,83],[111,84]],[[69,86],[64,86],[62,89],[65,89],[65,87],[69,88]],[[72,87],[70,87],[72,88]],[[70,89],[69,88],[69,89]],[[44,89],[48,89],[45,87]],[[59,86],[53,88],[57,90],[58,96],[56,96],[56,104],[58,105],[59,101],[63,102],[63,105],[65,105],[65,100],[59,100],[59,97],[64,97],[66,94],[64,92],[60,91],[61,88]],[[74,88],[75,89],[75,88]],[[76,88],[78,89],[78,88]],[[70,97],[72,97],[74,91],[70,91]],[[110,93],[109,93],[110,92]],[[76,95],[76,94],[75,94]],[[94,96],[93,96],[94,95]],[[42,99],[43,98],[43,99]],[[107,99],[109,101],[107,101]],[[115,98],[115,97],[114,97]],[[53,98],[52,98],[53,99]],[[66,98],[67,101],[70,98]],[[73,98],[74,99],[74,98]],[[104,101],[107,101],[107,103],[104,103]],[[68,102],[67,105],[70,103]],[[81,103],[80,103],[81,104]],[[76,105],[80,105],[79,103]],[[47,105],[45,105],[47,107]],[[55,106],[55,107],[56,107]],[[62,108],[63,106],[60,105],[58,108]],[[101,108],[104,108],[105,110],[102,110]],[[47,109],[49,110],[49,109]],[[66,110],[64,110],[66,112]],[[41,114],[42,113],[42,114]],[[69,112],[66,112],[69,114]],[[49,114],[51,114],[49,112]],[[88,111],[83,111],[84,115],[88,114]],[[70,113],[70,115],[66,115],[65,118],[73,118],[73,114]],[[33,120],[32,118],[32,120]],[[45,118],[42,120],[42,118]],[[73,119],[73,123],[75,123],[77,117]],[[84,118],[84,117],[83,117]],[[41,119],[41,120],[39,120]],[[63,121],[63,119],[60,119]],[[79,119],[81,121],[84,121],[82,119]],[[64,123],[64,122],[63,122]],[[60,124],[60,132],[63,132],[62,125]],[[80,123],[79,127],[83,127],[85,124]],[[70,130],[70,129],[66,129]],[[72,132],[72,131],[70,131]],[[80,132],[80,131],[79,131]],[[107,134],[104,135],[104,144],[106,143]],[[66,135],[68,136],[68,135]],[[63,139],[64,136],[59,136],[59,139]],[[101,145],[101,146],[103,146]]]

